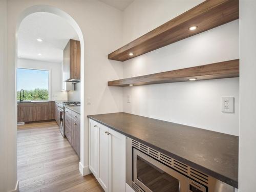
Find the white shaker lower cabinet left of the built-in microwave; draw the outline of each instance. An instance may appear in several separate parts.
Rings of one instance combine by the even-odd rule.
[[[125,136],[89,120],[89,167],[106,192],[125,191]]]

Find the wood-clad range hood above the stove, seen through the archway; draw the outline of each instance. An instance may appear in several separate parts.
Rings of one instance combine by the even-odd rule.
[[[81,66],[80,41],[70,39],[63,50],[63,80],[78,82],[80,81]]]

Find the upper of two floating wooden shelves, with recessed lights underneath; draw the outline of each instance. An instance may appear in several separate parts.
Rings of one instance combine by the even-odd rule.
[[[110,53],[108,58],[125,61],[238,18],[239,0],[207,0]],[[197,29],[191,31],[191,26]]]

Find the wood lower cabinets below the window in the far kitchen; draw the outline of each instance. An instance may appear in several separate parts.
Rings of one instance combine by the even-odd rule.
[[[18,103],[18,122],[44,121],[54,119],[54,102]]]

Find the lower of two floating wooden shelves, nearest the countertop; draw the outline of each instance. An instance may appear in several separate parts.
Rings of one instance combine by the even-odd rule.
[[[189,81],[188,79],[192,78],[206,80],[231,77],[239,77],[239,59],[109,81],[108,86],[125,87],[130,84],[133,86],[141,86],[144,84]]]

